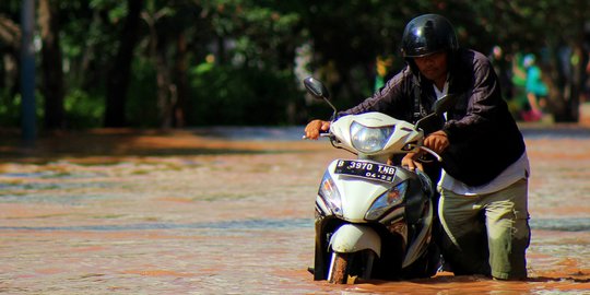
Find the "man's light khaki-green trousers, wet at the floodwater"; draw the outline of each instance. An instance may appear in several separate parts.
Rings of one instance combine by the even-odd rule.
[[[530,243],[528,179],[497,192],[462,196],[438,188],[438,214],[450,238],[442,247],[455,274],[527,278]]]

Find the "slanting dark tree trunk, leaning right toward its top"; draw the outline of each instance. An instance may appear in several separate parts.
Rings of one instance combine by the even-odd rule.
[[[128,0],[127,5],[129,13],[125,20],[119,51],[110,68],[107,80],[105,127],[127,126],[127,90],[129,87],[133,49],[138,42],[138,28],[143,0]]]

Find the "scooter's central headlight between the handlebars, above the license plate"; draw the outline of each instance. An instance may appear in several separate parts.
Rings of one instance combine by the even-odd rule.
[[[353,146],[362,153],[375,153],[381,151],[391,133],[392,126],[370,128],[358,122],[351,125],[351,139]]]

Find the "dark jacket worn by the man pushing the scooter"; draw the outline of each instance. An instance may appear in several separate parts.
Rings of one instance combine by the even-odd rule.
[[[489,60],[477,51],[459,49],[449,54],[448,63],[448,93],[457,96],[457,103],[442,127],[450,142],[441,155],[442,167],[465,185],[485,185],[522,155],[524,141]],[[380,111],[415,122],[429,113],[435,101],[433,83],[410,61],[373,97],[339,117]]]

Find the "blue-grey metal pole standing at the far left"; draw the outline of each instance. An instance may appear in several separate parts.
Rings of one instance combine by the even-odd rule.
[[[35,48],[33,32],[35,27],[35,0],[23,0],[21,10],[21,106],[22,135],[26,146],[35,144]]]

